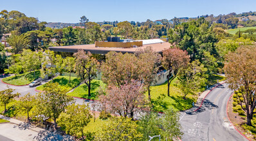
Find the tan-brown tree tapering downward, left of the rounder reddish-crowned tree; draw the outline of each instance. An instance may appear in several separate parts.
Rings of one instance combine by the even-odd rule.
[[[156,81],[156,74],[158,72],[158,65],[160,64],[161,55],[152,50],[151,46],[147,46],[145,49],[140,49],[136,56],[140,60],[140,66],[143,70],[142,78],[143,84],[147,87],[149,99],[151,99],[151,84]]]

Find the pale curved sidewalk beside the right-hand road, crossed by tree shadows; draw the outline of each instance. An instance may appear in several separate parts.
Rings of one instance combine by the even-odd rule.
[[[220,81],[219,83],[216,83],[214,85],[212,85],[211,87],[207,88],[204,92],[202,92],[202,94],[198,97],[196,104],[194,105],[193,108],[186,110],[186,113],[192,113],[192,112],[196,112],[200,107],[201,104],[203,103],[203,100],[205,99],[206,95],[208,95],[215,87],[225,83],[226,81]]]

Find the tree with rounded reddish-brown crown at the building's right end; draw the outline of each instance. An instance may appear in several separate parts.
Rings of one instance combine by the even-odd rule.
[[[185,67],[188,62],[189,56],[187,55],[187,51],[176,48],[165,49],[163,51],[162,64],[166,70],[169,70],[169,74],[167,75],[168,96],[170,96],[170,82],[177,76],[178,70]],[[171,77],[173,78],[170,79]]]

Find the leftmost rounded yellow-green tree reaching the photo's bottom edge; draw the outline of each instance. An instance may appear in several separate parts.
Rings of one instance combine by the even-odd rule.
[[[66,111],[61,113],[59,125],[64,128],[66,133],[75,137],[82,137],[84,140],[84,127],[91,121],[93,116],[89,112],[86,104],[71,104]]]

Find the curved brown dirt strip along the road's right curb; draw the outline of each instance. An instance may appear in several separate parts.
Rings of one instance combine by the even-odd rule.
[[[242,128],[243,124],[246,124],[246,118],[245,117],[241,117],[238,113],[234,113],[233,112],[233,95],[230,98],[230,101],[228,101],[228,117],[230,118],[233,126],[235,126],[235,128],[237,128],[238,131],[240,131],[244,136],[246,136],[247,138],[249,138],[250,140],[255,140],[256,137],[253,137],[253,135],[251,135],[250,133],[248,133],[248,131],[244,128]]]

